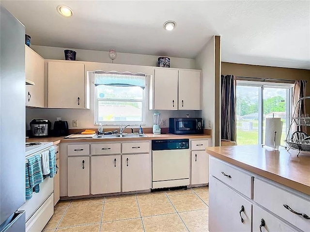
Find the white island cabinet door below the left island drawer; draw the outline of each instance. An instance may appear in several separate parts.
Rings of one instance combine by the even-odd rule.
[[[251,232],[251,221],[252,204],[210,176],[209,231]]]

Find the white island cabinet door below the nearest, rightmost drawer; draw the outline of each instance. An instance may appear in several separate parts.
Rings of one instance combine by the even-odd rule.
[[[262,224],[263,219],[263,224]],[[262,225],[261,229],[260,226]],[[263,226],[264,225],[264,226]],[[253,205],[253,232],[296,232],[277,217],[257,205]]]

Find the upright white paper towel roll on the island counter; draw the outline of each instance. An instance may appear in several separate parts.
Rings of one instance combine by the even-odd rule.
[[[266,130],[265,130],[265,145],[270,147],[279,148],[281,144],[283,122],[279,117],[266,118]],[[275,142],[275,131],[276,133],[276,144]]]

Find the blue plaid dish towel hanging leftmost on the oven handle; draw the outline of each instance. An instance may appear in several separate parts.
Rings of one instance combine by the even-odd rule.
[[[26,200],[31,199],[32,192],[40,191],[39,184],[43,182],[40,154],[27,159],[26,163]]]

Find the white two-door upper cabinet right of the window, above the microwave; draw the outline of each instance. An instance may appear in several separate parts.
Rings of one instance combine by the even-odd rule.
[[[150,109],[201,110],[201,71],[155,68]]]

